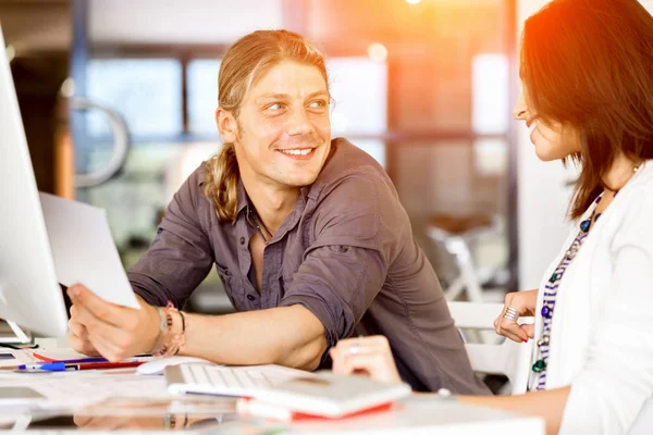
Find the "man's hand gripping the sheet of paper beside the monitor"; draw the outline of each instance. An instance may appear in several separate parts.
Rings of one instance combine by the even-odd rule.
[[[67,295],[73,301],[69,344],[76,351],[120,361],[155,346],[159,313],[139,297],[140,310],[135,310],[107,302],[81,284],[70,287]]]

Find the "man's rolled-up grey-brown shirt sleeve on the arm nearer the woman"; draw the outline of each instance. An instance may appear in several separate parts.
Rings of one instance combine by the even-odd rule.
[[[280,302],[300,304],[324,325],[328,346],[349,336],[381,290],[389,260],[381,234],[394,203],[374,177],[346,177],[320,202],[315,241]]]

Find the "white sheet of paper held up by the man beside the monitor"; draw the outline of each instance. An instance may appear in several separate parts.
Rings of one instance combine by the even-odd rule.
[[[109,302],[139,309],[104,210],[42,192],[40,200],[59,282],[81,283]]]

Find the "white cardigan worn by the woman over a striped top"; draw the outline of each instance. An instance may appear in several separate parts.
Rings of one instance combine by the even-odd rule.
[[[541,290],[578,228],[549,268]],[[567,385],[571,393],[560,434],[653,434],[653,160],[592,225],[560,281],[546,389]]]

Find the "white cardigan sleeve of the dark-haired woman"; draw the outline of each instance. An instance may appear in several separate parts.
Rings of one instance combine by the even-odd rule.
[[[653,196],[642,197],[614,238],[609,293],[560,434],[626,434],[653,397]]]

